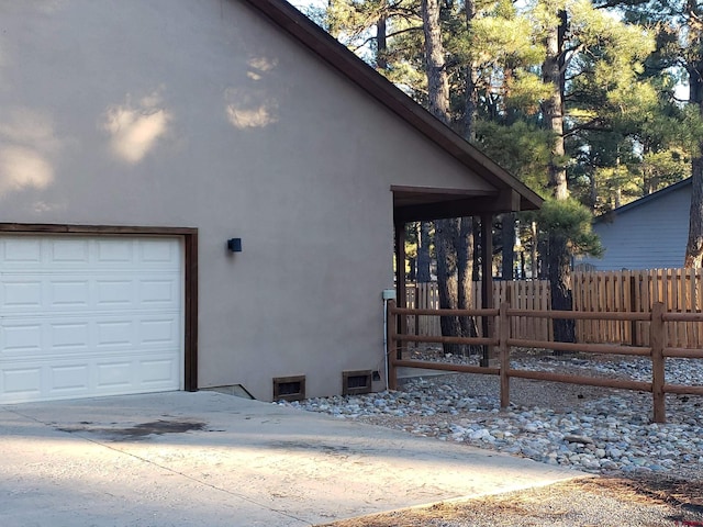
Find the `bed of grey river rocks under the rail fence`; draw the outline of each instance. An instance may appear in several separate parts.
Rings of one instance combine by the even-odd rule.
[[[416,356],[462,363],[477,360],[438,351]],[[649,360],[628,356],[593,359],[524,352],[512,359],[512,368],[651,379]],[[668,359],[666,380],[701,385],[703,361]],[[592,473],[701,479],[703,397],[667,395],[667,424],[655,424],[649,393],[511,379],[511,405],[501,411],[498,383],[494,375],[426,374],[404,379],[398,391],[278,404]]]

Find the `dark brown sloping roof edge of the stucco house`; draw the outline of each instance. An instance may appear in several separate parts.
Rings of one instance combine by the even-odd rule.
[[[518,205],[520,210],[535,210],[542,205],[544,200],[536,192],[413,101],[286,0],[243,1],[266,15],[348,80],[380,101],[499,191],[507,191],[509,194],[517,193],[518,202],[507,198],[503,200],[505,203],[514,203],[514,205]],[[455,203],[457,204],[456,212],[459,212],[460,201],[457,200]],[[512,208],[509,205],[502,212],[514,210],[514,205]]]

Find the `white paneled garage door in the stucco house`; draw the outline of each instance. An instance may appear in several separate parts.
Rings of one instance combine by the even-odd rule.
[[[0,236],[0,404],[182,389],[176,238]]]

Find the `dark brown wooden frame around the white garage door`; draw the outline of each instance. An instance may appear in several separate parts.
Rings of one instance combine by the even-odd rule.
[[[0,223],[1,234],[75,234],[110,236],[167,236],[183,240],[183,389],[198,391],[198,229],[190,227],[143,227],[114,225],[57,225]]]

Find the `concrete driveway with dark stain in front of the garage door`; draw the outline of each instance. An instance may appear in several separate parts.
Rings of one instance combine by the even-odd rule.
[[[214,392],[0,406],[0,525],[305,526],[581,475]]]

